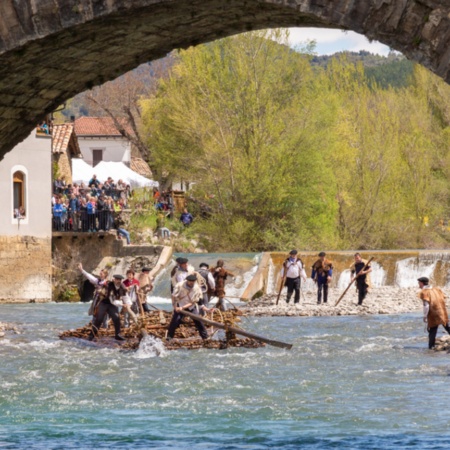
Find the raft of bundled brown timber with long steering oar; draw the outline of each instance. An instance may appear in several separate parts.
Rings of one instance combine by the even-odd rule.
[[[191,314],[187,312],[185,315],[191,316]],[[91,323],[87,324],[82,328],[77,328],[76,330],[64,331],[59,335],[59,338],[63,340],[84,342],[86,345],[93,347],[101,347],[101,348],[120,347],[121,349],[124,350],[136,350],[139,347],[141,339],[146,335],[150,335],[155,338],[161,339],[164,343],[164,346],[168,350],[177,350],[181,348],[188,350],[194,350],[198,348],[225,349],[229,347],[258,348],[264,347],[265,346],[264,342],[283,348],[292,347],[290,344],[272,341],[270,339],[262,338],[260,336],[253,335],[244,330],[241,330],[240,328],[237,327],[236,322],[241,321],[239,316],[242,315],[243,315],[242,312],[237,310],[228,310],[225,312],[214,310],[214,312],[208,315],[207,318],[209,322],[207,323],[207,325],[211,325],[211,322],[214,322],[214,325],[212,325],[208,329],[210,339],[206,341],[203,341],[200,338],[194,326],[194,323],[190,317],[186,317],[184,322],[176,330],[174,339],[167,341],[165,337],[168,325],[172,318],[172,313],[163,310],[145,313],[144,316],[139,317],[139,321],[137,324],[133,324],[129,328],[123,327],[123,317],[121,316],[122,322],[121,334],[126,339],[126,341],[123,342],[116,341],[114,339],[114,326],[111,320],[108,323],[108,328],[100,329],[98,336],[92,342],[88,340],[89,335],[91,333]],[[200,317],[200,319],[202,318]],[[214,338],[214,335],[216,334],[218,329],[225,330],[225,339]],[[248,335],[250,337],[245,338],[236,337],[236,334],[240,333]]]

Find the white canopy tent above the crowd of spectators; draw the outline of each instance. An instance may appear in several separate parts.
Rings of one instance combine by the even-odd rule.
[[[91,167],[82,159],[72,159],[72,180],[74,183],[88,183],[92,175],[97,175],[97,179],[101,182],[111,177],[115,183],[123,180],[133,189],[136,187],[158,187],[157,181],[145,178],[137,172],[131,170],[121,162],[102,161],[95,167]]]

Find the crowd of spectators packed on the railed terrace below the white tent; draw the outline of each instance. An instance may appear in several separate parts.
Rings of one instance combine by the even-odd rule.
[[[54,231],[109,231],[116,229],[129,243],[121,213],[128,208],[130,185],[111,177],[102,183],[94,175],[87,185],[66,184],[64,178],[53,183],[52,212]]]

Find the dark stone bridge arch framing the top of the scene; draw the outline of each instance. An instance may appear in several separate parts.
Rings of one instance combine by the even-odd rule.
[[[1,0],[0,159],[75,94],[249,30],[353,30],[450,82],[449,23],[448,0]]]

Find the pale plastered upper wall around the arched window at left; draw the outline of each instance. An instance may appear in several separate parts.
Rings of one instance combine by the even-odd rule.
[[[51,138],[33,131],[0,161],[0,236],[51,237]],[[14,218],[13,174],[25,178],[25,219]]]

